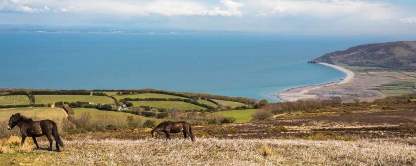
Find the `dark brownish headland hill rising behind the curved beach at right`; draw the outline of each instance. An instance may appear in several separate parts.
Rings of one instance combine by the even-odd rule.
[[[416,70],[416,41],[360,45],[327,53],[313,61],[394,70]]]

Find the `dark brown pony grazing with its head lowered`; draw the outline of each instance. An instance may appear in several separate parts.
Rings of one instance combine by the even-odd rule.
[[[192,141],[195,141],[195,137],[192,134],[191,125],[186,121],[164,121],[158,124],[151,132],[152,138],[157,136],[157,132],[164,132],[166,135],[166,141],[170,139],[171,133],[183,132],[183,137],[186,139],[188,135]]]

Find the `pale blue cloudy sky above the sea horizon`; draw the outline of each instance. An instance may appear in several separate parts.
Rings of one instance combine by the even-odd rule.
[[[0,24],[416,34],[416,0],[0,0]]]

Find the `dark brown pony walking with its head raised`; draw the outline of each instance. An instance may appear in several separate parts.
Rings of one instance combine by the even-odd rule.
[[[10,117],[9,125],[7,129],[11,130],[14,126],[19,126],[20,132],[22,133],[22,142],[25,143],[26,137],[32,137],[33,142],[36,144],[36,148],[39,149],[38,142],[36,141],[36,137],[46,136],[49,140],[49,148],[48,150],[52,150],[52,137],[55,139],[56,142],[56,150],[59,151],[59,146],[63,147],[64,143],[62,143],[61,139],[59,138],[58,128],[56,127],[56,123],[52,120],[41,120],[41,121],[33,121],[30,118],[18,114],[14,114]]]

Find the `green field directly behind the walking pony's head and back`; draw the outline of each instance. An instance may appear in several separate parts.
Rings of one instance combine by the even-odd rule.
[[[9,120],[10,116],[16,113],[21,113],[28,118],[35,119],[62,119],[65,117],[60,108],[49,107],[30,107],[30,108],[5,108],[0,109],[0,121]]]

